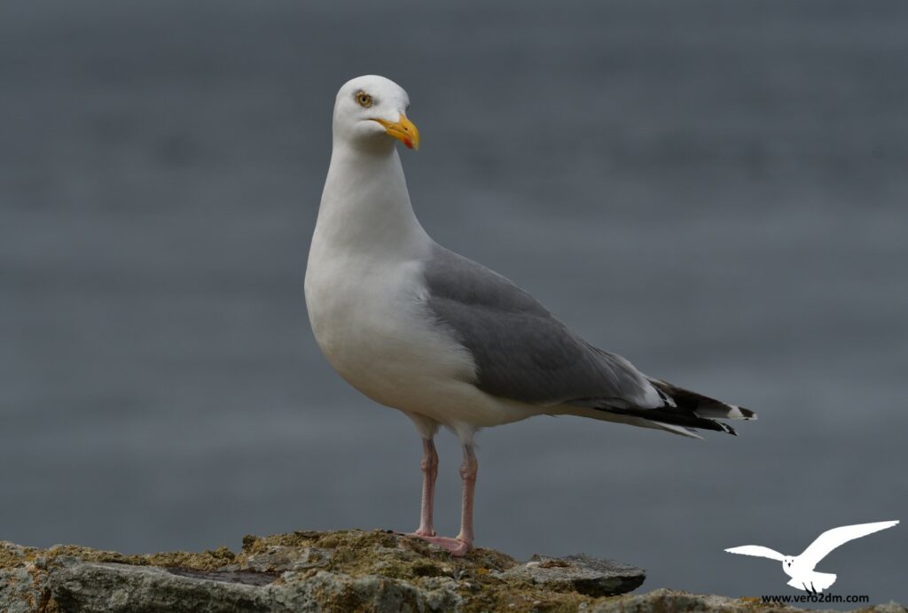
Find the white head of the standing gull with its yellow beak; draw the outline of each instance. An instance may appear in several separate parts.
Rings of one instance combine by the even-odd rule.
[[[334,102],[334,139],[350,145],[390,150],[394,139],[419,149],[419,131],[407,119],[410,96],[390,79],[370,74],[341,86]]]

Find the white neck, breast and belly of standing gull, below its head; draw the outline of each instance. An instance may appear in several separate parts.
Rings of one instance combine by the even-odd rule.
[[[433,245],[413,214],[397,152],[335,141],[306,269],[322,353],[376,402],[458,433],[541,412],[476,387],[472,355],[425,305],[422,267]]]

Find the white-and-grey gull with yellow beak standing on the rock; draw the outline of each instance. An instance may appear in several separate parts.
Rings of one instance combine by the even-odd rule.
[[[455,556],[473,546],[474,435],[534,415],[577,415],[701,438],[755,419],[644,375],[590,345],[507,278],[441,247],[413,212],[395,145],[419,149],[410,97],[381,76],[344,83],[334,102],[331,164],[312,236],[305,295],[331,366],[422,438],[419,528]],[[432,504],[439,426],[463,447],[456,538],[438,536]]]

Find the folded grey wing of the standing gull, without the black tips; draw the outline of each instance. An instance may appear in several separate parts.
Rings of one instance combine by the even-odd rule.
[[[664,405],[646,375],[588,345],[507,278],[440,246],[424,274],[432,315],[469,350],[484,392],[540,405]]]

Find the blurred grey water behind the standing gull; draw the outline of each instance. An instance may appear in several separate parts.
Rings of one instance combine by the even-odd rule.
[[[334,93],[380,73],[440,243],[760,415],[704,442],[485,431],[479,544],[794,593],[723,550],[908,520],[906,27],[898,2],[3,3],[0,539],[416,527],[419,438],[331,371],[302,297]],[[818,569],[908,601],[906,534]]]

